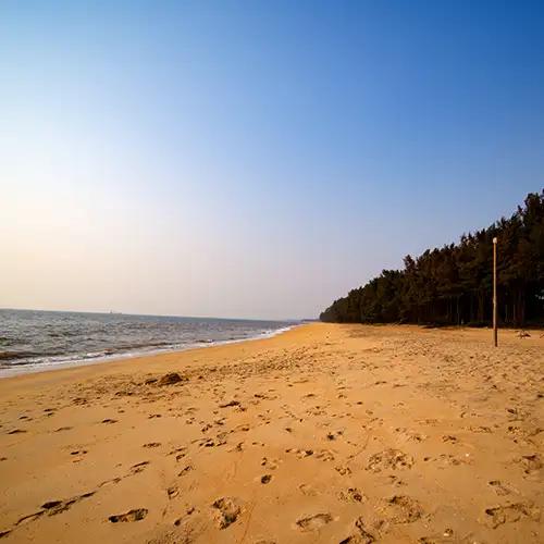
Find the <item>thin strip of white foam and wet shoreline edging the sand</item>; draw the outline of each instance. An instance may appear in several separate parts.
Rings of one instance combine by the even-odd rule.
[[[235,338],[235,339],[225,339],[225,341],[198,341],[195,343],[186,344],[185,346],[172,347],[172,348],[163,348],[163,349],[150,349],[144,351],[125,351],[111,355],[104,355],[99,357],[88,357],[88,358],[78,358],[78,359],[67,359],[63,361],[53,361],[53,362],[29,362],[29,363],[18,363],[13,366],[0,367],[0,380],[5,380],[10,378],[16,378],[25,374],[36,374],[41,372],[52,372],[57,370],[64,370],[71,368],[94,366],[94,364],[102,364],[102,363],[112,363],[122,360],[131,360],[131,359],[139,359],[146,357],[154,357],[165,354],[175,354],[175,353],[184,353],[193,349],[205,349],[215,346],[224,346],[228,344],[238,344],[240,342],[255,342],[259,339],[268,339],[273,338],[280,334],[284,334],[297,326],[301,326],[304,323],[295,323],[289,326],[283,326],[281,329],[276,329],[274,331],[268,333],[260,333],[256,336],[249,336],[246,338]],[[70,356],[66,356],[70,357]]]

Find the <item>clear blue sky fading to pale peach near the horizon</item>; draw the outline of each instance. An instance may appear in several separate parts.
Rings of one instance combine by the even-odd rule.
[[[544,186],[544,2],[0,2],[0,308],[314,318]]]

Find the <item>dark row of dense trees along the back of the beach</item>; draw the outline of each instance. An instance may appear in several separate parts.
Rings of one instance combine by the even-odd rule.
[[[404,258],[335,300],[320,319],[339,323],[484,326],[492,321],[493,238],[503,325],[544,324],[544,190],[529,194],[509,219],[463,234],[458,244]]]

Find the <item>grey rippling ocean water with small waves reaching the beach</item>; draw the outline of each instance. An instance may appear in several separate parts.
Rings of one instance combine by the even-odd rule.
[[[263,338],[295,321],[0,309],[0,378]]]

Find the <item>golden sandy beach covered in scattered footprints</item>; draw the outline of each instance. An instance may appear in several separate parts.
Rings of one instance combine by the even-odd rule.
[[[2,542],[542,542],[540,336],[317,323],[0,380]]]

